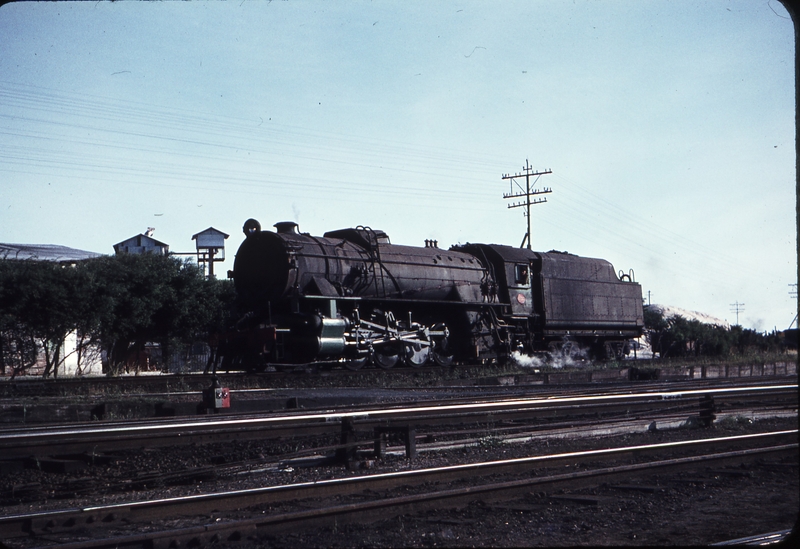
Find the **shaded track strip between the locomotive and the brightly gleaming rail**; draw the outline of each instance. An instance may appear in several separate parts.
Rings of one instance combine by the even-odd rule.
[[[677,377],[665,374],[664,379],[642,380],[637,374],[634,376],[637,381],[630,381],[629,378],[633,376],[635,370],[637,369],[623,368],[547,374],[501,374],[486,378],[455,377],[450,380],[443,380],[433,373],[431,375],[424,373],[422,377],[418,377],[420,374],[418,371],[408,377],[404,377],[403,373],[394,372],[388,378],[375,375],[338,378],[338,376],[331,377],[329,373],[320,376],[292,374],[283,378],[226,376],[222,380],[222,385],[229,389],[231,407],[216,412],[230,415],[291,408],[319,409],[323,406],[339,408],[358,403],[408,403],[420,398],[443,399],[456,395],[466,399],[479,399],[500,394],[509,397],[528,397],[538,394],[544,398],[562,393],[592,394],[597,393],[600,387],[605,393],[611,394],[632,390],[663,391],[678,386],[689,390],[709,385],[721,387],[726,384],[775,385],[796,380],[796,376],[777,375],[698,379],[686,377],[688,375],[686,372],[691,368],[684,368]],[[486,370],[484,374],[485,372]],[[736,373],[752,372],[750,370],[742,372],[740,369]],[[384,387],[387,380],[391,387]],[[403,380],[409,384],[405,385],[402,383]],[[197,416],[209,411],[203,398],[203,391],[211,384],[207,376],[143,376],[122,378],[118,381],[119,383],[114,379],[92,379],[20,382],[21,387],[33,386],[28,387],[30,394],[27,390],[20,389],[17,392],[13,389],[17,382],[2,383],[0,391],[5,390],[6,397],[0,398],[0,424],[34,425],[55,421],[77,424],[114,418]],[[347,387],[335,387],[337,384],[341,385],[343,381]],[[357,383],[352,383],[353,381]],[[325,387],[328,383],[331,386]],[[315,384],[321,384],[323,387],[314,387]],[[376,389],[376,386],[383,388]],[[632,389],[633,387],[635,389]],[[47,396],[39,395],[45,389]],[[34,395],[38,396],[34,399],[32,398]]]

